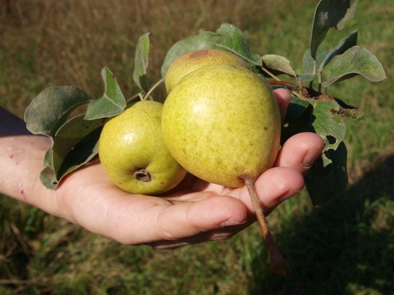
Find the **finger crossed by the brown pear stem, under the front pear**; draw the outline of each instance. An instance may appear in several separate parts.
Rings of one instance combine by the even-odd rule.
[[[295,196],[304,188],[304,178],[292,168],[274,167],[265,171],[255,182],[264,213],[269,213],[283,201]],[[248,189],[234,189],[228,195],[242,201],[254,213]]]

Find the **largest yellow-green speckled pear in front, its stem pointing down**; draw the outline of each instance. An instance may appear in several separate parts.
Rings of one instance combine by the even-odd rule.
[[[229,64],[199,68],[168,94],[164,141],[191,174],[227,187],[271,168],[281,119],[272,89],[252,71]]]

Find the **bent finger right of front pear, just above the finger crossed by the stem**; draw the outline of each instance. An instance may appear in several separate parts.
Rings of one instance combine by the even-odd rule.
[[[322,153],[323,139],[312,132],[298,133],[289,138],[279,150],[275,166],[291,167],[305,174]]]

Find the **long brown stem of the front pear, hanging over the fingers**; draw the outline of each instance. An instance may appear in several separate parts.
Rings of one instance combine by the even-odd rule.
[[[249,191],[250,199],[252,200],[253,207],[255,208],[257,220],[259,222],[260,229],[263,233],[263,237],[268,248],[271,272],[277,275],[288,275],[291,273],[290,266],[280,254],[280,251],[276,246],[274,237],[271,235],[268,229],[263,209],[257,196],[255,180],[250,177],[242,177],[242,179],[245,181],[246,187]]]

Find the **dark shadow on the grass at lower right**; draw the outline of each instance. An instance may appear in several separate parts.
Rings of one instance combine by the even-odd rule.
[[[282,232],[293,273],[267,274],[251,294],[393,294],[393,227],[394,154]]]

